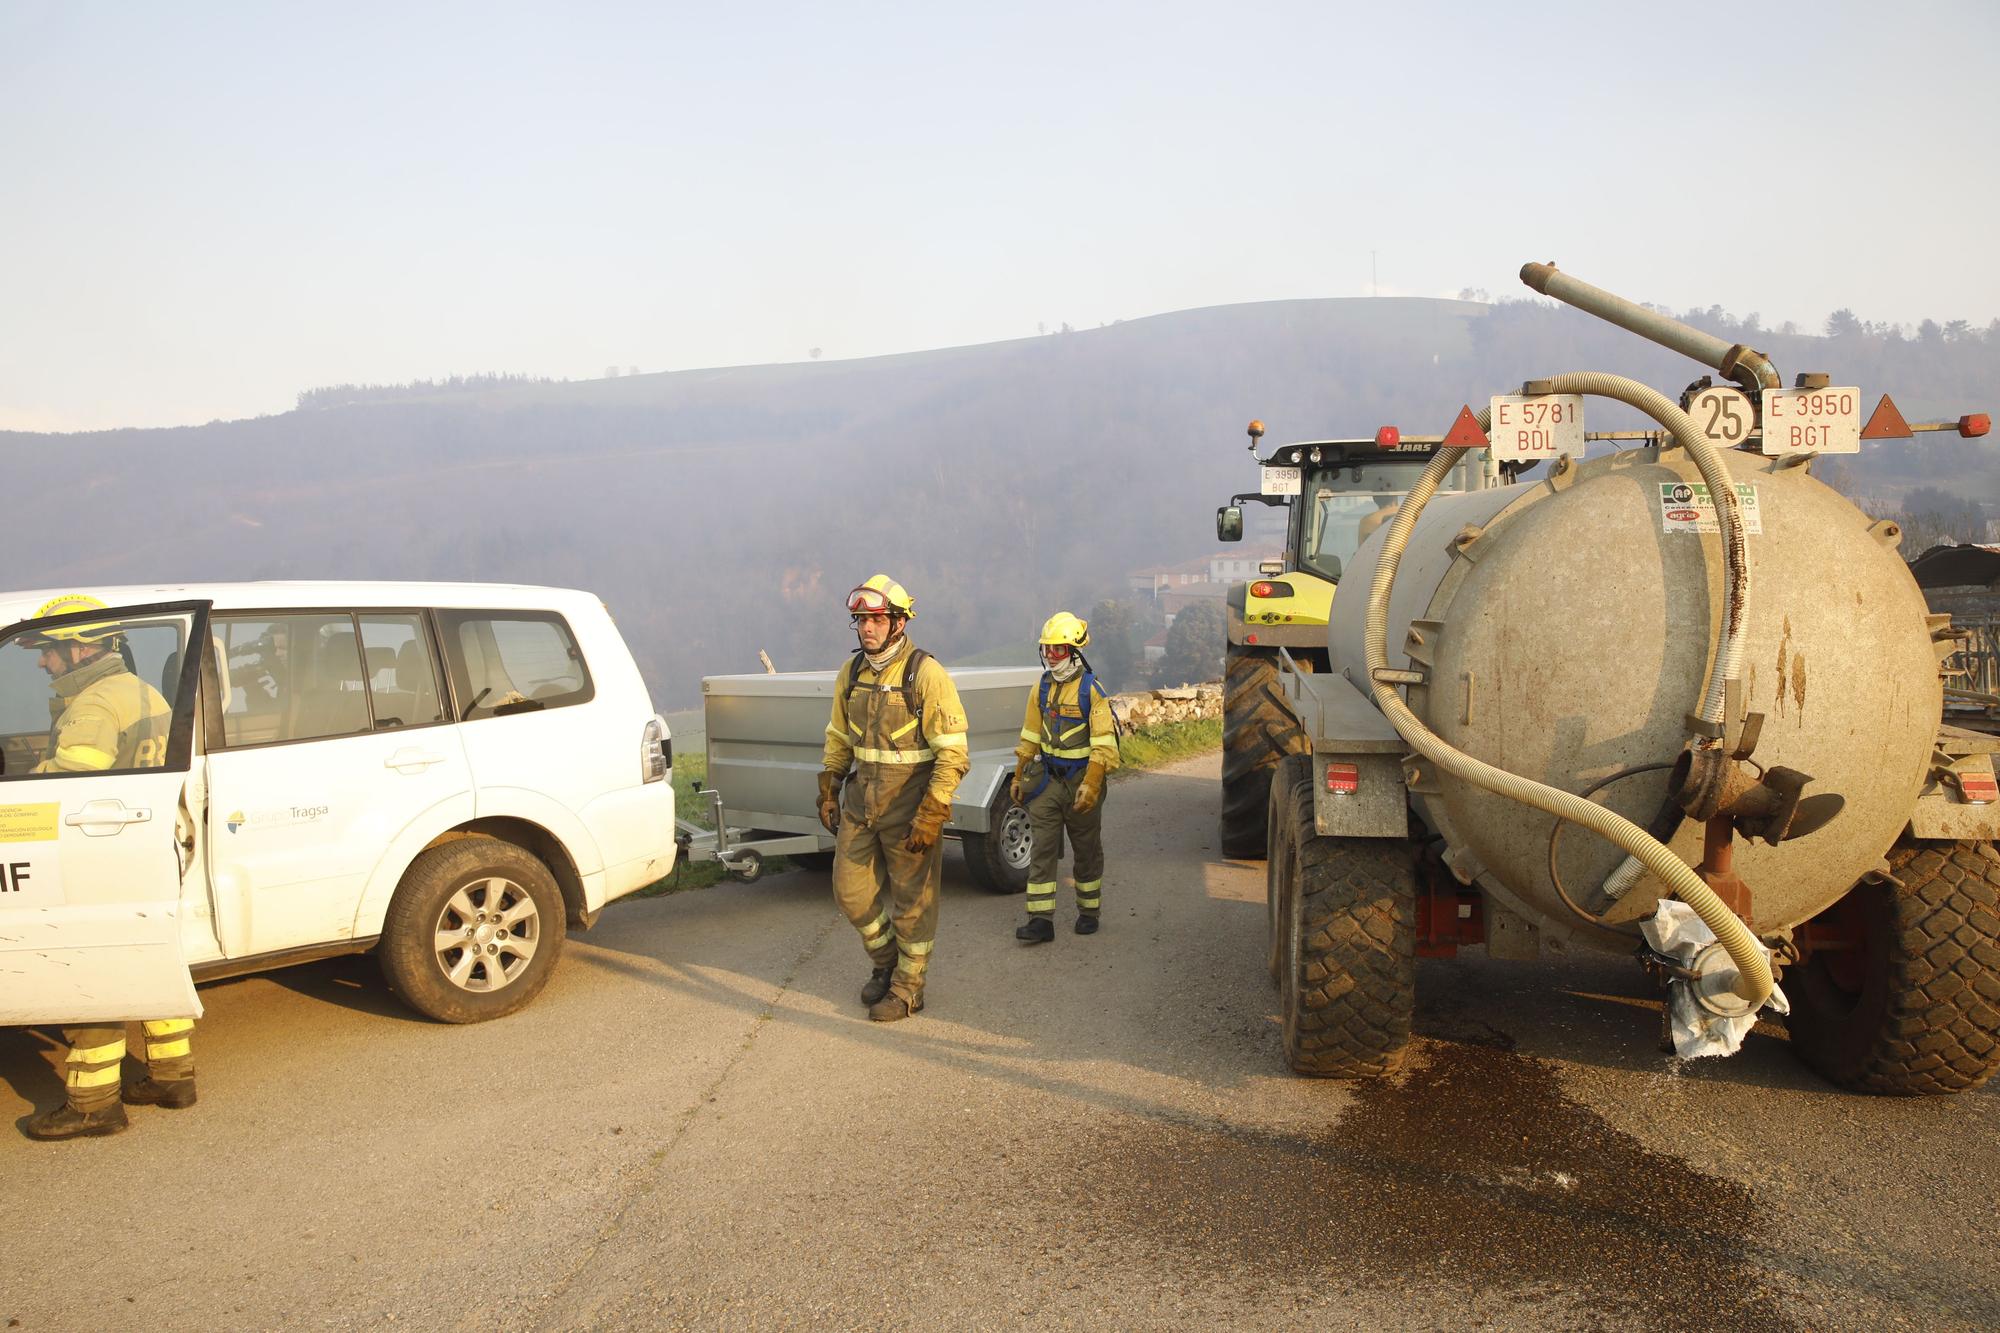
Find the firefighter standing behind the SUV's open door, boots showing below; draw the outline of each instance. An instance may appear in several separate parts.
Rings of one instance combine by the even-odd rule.
[[[86,594],[58,596],[46,602],[36,618],[84,610],[104,610],[104,602]],[[58,624],[26,642],[40,648],[40,666],[54,689],[50,711],[56,721],[48,733],[48,757],[34,767],[36,773],[116,773],[158,769],[166,763],[166,737],[174,711],[160,691],[132,675],[120,650],[116,620]],[[192,1107],[194,1019],[154,1019],[142,1029],[148,1077],[122,1095],[126,1025],[92,1023],[62,1029],[62,1039],[70,1043],[64,1061],[68,1097],[62,1107],[28,1121],[28,1137],[114,1135],[126,1127],[122,1103]]]

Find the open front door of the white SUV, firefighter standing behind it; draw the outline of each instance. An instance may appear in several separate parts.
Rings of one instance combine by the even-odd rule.
[[[202,671],[188,646],[206,642],[208,606],[110,606],[0,630],[0,1025],[202,1013],[182,873]],[[104,652],[66,671],[68,642]],[[80,701],[118,719],[116,753],[56,753],[54,723]]]

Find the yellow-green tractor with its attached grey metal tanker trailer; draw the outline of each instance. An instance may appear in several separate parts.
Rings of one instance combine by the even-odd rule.
[[[1484,943],[1634,955],[1684,1055],[1782,1013],[1840,1087],[1984,1083],[2000,741],[1942,721],[1960,642],[1898,526],[1812,468],[1986,416],[1912,426],[1884,396],[1864,430],[1854,386],[1784,384],[1550,264],[1522,280],[1714,374],[1670,396],[1542,368],[1444,436],[1280,446],[1216,516],[1232,540],[1242,502],[1290,508],[1284,568],[1230,596],[1222,791],[1224,849],[1266,855],[1286,1061],[1392,1071],[1416,959]],[[1498,448],[1496,412],[1614,402],[1652,428]],[[1330,610],[1294,598],[1300,568]]]

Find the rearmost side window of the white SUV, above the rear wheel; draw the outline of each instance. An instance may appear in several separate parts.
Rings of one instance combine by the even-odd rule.
[[[586,703],[590,671],[568,622],[542,610],[440,610],[464,721]]]

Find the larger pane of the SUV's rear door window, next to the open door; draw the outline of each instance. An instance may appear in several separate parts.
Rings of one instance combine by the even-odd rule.
[[[344,612],[216,616],[228,660],[222,743],[270,745],[368,731],[360,636]]]

